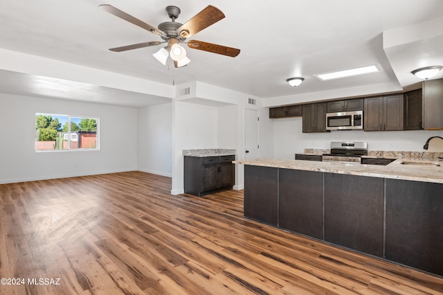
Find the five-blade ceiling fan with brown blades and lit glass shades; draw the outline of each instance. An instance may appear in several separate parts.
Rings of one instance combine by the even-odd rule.
[[[136,26],[139,26],[141,28],[144,28],[145,30],[150,31],[151,33],[159,35],[161,39],[163,39],[162,42],[150,41],[116,48],[109,48],[110,51],[121,52],[166,43],[168,44],[168,46],[162,47],[153,55],[162,64],[166,64],[168,57],[171,57],[176,68],[186,66],[186,64],[190,62],[188,57],[186,57],[185,48],[180,46],[181,43],[188,44],[188,47],[192,49],[208,51],[211,53],[217,53],[230,57],[236,57],[240,53],[239,49],[228,46],[217,45],[198,40],[189,40],[188,42],[186,42],[186,38],[192,37],[193,35],[199,33],[201,30],[208,28],[208,26],[215,24],[220,19],[224,19],[224,13],[215,6],[207,6],[206,8],[204,8],[204,10],[201,10],[199,13],[197,13],[197,15],[188,20],[185,24],[175,22],[175,20],[180,15],[180,8],[178,8],[177,6],[167,6],[166,12],[168,12],[171,21],[165,21],[159,24],[157,28],[145,23],[144,21],[141,21],[140,19],[136,19],[132,15],[128,15],[126,12],[123,12],[122,10],[119,10],[118,8],[115,8],[114,6],[111,6],[109,4],[102,4],[99,7],[106,12],[111,13],[111,15],[120,17],[120,19],[125,19],[125,21],[129,21]]]

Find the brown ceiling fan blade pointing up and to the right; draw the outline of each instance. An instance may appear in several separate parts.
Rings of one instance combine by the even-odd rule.
[[[182,37],[188,38],[215,24],[220,19],[224,19],[224,13],[217,7],[209,5],[192,17],[192,19],[186,21],[185,24],[177,29],[177,33]]]

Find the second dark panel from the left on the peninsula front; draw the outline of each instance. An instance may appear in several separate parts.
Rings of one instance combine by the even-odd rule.
[[[322,173],[292,169],[278,173],[278,226],[323,239]]]

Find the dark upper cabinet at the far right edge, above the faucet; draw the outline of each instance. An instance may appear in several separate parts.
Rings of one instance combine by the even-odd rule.
[[[443,129],[443,79],[423,82],[424,129]]]

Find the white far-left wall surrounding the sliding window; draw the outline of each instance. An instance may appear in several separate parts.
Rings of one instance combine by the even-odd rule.
[[[137,169],[137,110],[0,93],[0,184]],[[100,150],[35,152],[35,113],[100,118]]]

